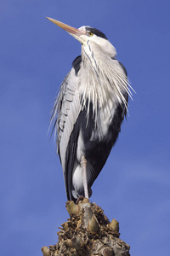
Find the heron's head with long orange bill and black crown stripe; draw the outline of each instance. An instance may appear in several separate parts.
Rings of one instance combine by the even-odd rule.
[[[111,56],[112,58],[116,57],[115,47],[105,37],[105,34],[100,32],[98,29],[91,26],[81,26],[77,29],[60,22],[59,20],[54,20],[52,18],[48,18],[48,20],[54,22],[54,24],[71,34],[73,38],[76,38],[82,44],[82,47],[88,44],[88,42],[92,41],[94,44],[97,44],[99,48],[105,52],[105,54]]]

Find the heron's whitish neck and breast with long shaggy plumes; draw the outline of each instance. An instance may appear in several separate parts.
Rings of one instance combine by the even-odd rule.
[[[87,99],[93,102],[95,112],[97,108],[104,108],[109,100],[113,104],[126,102],[127,77],[119,61],[106,55],[98,44],[88,41],[82,46],[81,65],[79,86],[84,105]]]

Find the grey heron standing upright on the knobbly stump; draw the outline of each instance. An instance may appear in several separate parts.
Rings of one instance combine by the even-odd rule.
[[[94,180],[127,116],[133,88],[105,33],[47,18],[82,44],[81,55],[72,62],[51,112],[67,199],[76,202],[81,196],[89,199],[92,195]]]

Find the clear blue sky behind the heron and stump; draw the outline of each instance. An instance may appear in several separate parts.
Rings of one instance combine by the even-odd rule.
[[[120,222],[132,255],[168,255],[169,1],[2,0],[0,7],[1,254],[42,255],[69,217],[48,124],[81,45],[49,16],[105,32],[127,68],[137,94],[91,200]]]

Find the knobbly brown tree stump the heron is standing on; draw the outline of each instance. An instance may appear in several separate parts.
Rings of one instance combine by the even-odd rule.
[[[119,223],[109,219],[95,203],[84,198],[66,202],[68,218],[57,233],[54,246],[42,247],[43,256],[129,256],[130,246],[119,236]]]

